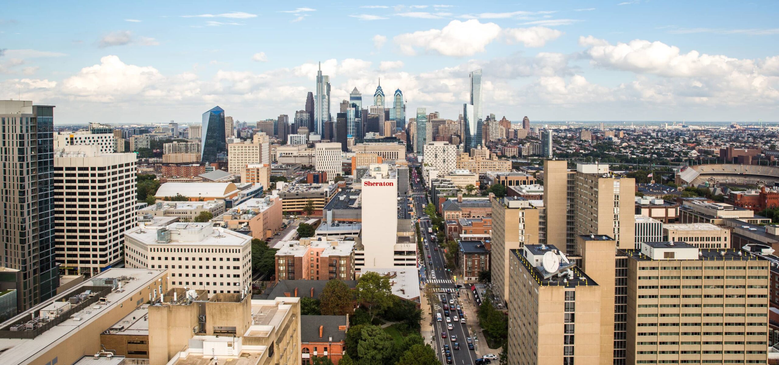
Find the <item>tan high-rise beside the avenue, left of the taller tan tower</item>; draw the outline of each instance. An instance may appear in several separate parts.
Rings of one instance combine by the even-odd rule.
[[[491,202],[492,290],[504,302],[509,302],[510,251],[524,244],[538,244],[538,209],[519,197],[492,197]]]

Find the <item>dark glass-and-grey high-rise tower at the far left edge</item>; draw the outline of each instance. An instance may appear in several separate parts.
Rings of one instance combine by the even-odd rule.
[[[0,266],[22,272],[16,309],[23,311],[53,297],[59,286],[54,241],[54,107],[0,100],[0,125]]]

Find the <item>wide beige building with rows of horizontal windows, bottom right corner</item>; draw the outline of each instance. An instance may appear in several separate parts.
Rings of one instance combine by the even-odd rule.
[[[768,261],[683,242],[628,254],[626,363],[767,363]]]

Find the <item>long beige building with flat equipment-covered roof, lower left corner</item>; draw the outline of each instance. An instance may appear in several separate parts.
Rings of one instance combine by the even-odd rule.
[[[93,356],[102,350],[100,333],[150,298],[159,297],[158,290],[166,291],[167,283],[164,269],[100,272],[0,326],[0,363],[72,364],[82,356]]]

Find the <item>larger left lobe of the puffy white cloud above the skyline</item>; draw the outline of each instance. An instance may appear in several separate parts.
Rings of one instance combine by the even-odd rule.
[[[476,19],[452,20],[442,29],[419,30],[393,38],[404,54],[416,54],[416,48],[435,51],[445,56],[464,57],[484,52],[501,32],[495,23],[479,23]]]

